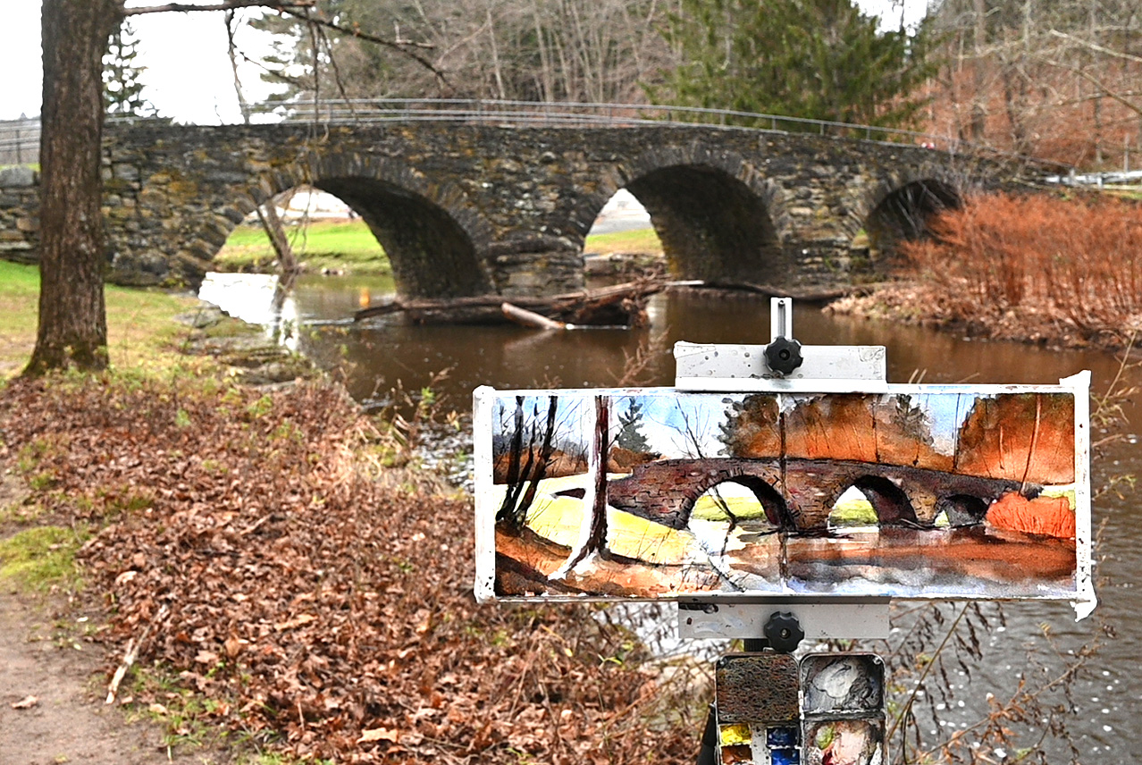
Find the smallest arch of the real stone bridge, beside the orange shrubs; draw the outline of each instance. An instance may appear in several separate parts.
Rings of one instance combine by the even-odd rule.
[[[964,203],[959,184],[944,174],[920,174],[883,180],[851,219],[852,234],[863,227],[880,267],[898,258],[899,242],[931,235],[932,217]]]

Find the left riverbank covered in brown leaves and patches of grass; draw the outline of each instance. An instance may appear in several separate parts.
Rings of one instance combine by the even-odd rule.
[[[0,293],[34,328],[15,273],[23,298]],[[241,333],[162,297],[114,371],[0,382],[0,581],[21,603],[54,594],[54,621],[80,625],[66,645],[103,657],[99,695],[127,667],[105,717],[151,720],[194,762],[692,760],[705,709],[687,673],[651,669],[584,607],[478,606],[471,501],[408,430],[324,378],[243,384],[217,351]],[[19,337],[13,370],[34,332]],[[53,667],[26,683],[74,670]],[[29,709],[79,725],[72,707]]]

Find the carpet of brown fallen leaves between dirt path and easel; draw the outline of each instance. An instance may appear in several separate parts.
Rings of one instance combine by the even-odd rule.
[[[376,437],[325,384],[0,394],[0,442],[48,444],[37,469],[61,476],[35,501],[104,526],[79,555],[104,639],[155,623],[137,663],[212,720],[299,759],[692,762],[702,707],[664,703],[632,633],[592,606],[477,605],[471,504],[381,488],[357,458]]]

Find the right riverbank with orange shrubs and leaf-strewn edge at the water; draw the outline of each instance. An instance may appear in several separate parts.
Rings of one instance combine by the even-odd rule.
[[[904,242],[898,281],[828,312],[1047,347],[1131,346],[1142,330],[1142,206],[988,194]]]

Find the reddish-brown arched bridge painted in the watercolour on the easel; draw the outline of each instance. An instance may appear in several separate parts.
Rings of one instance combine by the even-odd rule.
[[[882,525],[931,526],[940,513],[954,526],[982,522],[988,507],[1021,484],[942,470],[850,460],[666,459],[638,465],[608,482],[606,501],[671,529],[685,529],[698,499],[711,488],[737,483],[754,492],[770,523],[821,531],[837,499],[855,486]],[[1035,486],[1023,489],[1027,493]]]

